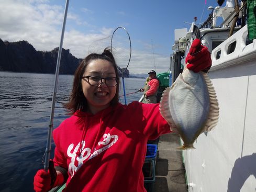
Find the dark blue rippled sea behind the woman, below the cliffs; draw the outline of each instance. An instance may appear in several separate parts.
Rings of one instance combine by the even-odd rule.
[[[34,191],[36,172],[43,168],[54,88],[54,74],[0,72],[0,191]],[[139,100],[144,78],[124,78],[126,103]],[[59,75],[53,129],[69,116],[62,107],[73,75]],[[137,92],[137,93],[135,93]],[[120,78],[120,103],[125,104]],[[52,142],[52,151],[54,143]],[[51,158],[53,152],[51,152]]]

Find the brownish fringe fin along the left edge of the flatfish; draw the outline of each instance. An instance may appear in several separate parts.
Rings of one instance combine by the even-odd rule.
[[[159,111],[160,111],[160,114],[163,116],[163,118],[169,123],[171,130],[174,132],[177,132],[175,131],[176,126],[172,118],[170,107],[169,107],[170,91],[171,91],[171,87],[168,87],[163,91],[162,97],[160,99]]]

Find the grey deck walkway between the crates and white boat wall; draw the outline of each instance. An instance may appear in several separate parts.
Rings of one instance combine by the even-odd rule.
[[[157,165],[155,166],[154,191],[156,192],[187,191],[182,153],[172,150],[177,146],[180,146],[179,136],[161,135],[158,143]]]

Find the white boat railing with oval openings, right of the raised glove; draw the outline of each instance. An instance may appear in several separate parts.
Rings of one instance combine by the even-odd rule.
[[[213,66],[215,71],[227,66],[237,65],[255,59],[256,40],[248,41],[247,25],[219,44],[212,51]]]

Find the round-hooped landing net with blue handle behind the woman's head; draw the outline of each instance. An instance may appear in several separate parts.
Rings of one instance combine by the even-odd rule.
[[[114,47],[113,47],[113,37],[114,37],[115,32],[116,32],[118,29],[123,29],[123,30],[125,30],[125,32],[127,33],[127,36],[129,37],[130,54],[129,54],[129,59],[128,59],[127,65],[126,65],[126,67],[125,67],[125,69],[127,70],[128,66],[129,66],[129,63],[130,63],[130,60],[131,60],[131,39],[130,39],[130,35],[129,35],[128,31],[126,30],[126,28],[124,28],[124,27],[117,27],[117,28],[114,30],[114,32],[113,32],[113,34],[112,34],[112,38],[111,38],[110,49],[111,49],[111,52],[112,52],[112,54],[113,54],[113,51],[114,51]],[[116,36],[115,36],[115,37],[116,37]],[[125,53],[124,53],[124,52],[120,52],[120,50],[118,50],[118,48],[120,49],[120,46],[117,46],[117,47],[116,47],[116,50],[119,51],[118,56],[126,54],[127,51],[125,51]],[[122,58],[122,59],[123,59],[123,58]],[[122,61],[120,61],[120,63],[121,63],[121,62],[122,62]],[[126,62],[126,61],[125,61],[125,62]],[[118,64],[119,64],[119,63],[118,63]],[[121,76],[122,76],[122,80],[123,80],[123,89],[124,89],[124,96],[125,96],[125,105],[127,105],[126,93],[125,93],[125,79],[124,79],[124,72],[125,72],[126,70],[121,69]]]

